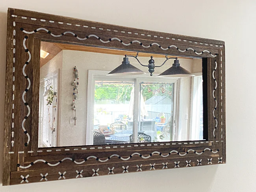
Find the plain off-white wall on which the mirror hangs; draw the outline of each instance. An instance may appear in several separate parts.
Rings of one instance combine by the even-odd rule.
[[[256,188],[255,0],[2,0],[0,4],[0,168],[4,133],[7,7],[221,39],[226,42],[227,164],[70,179],[1,192],[251,192]],[[171,166],[171,164],[170,164]],[[1,171],[0,171],[1,172]],[[0,174],[1,175],[1,174]],[[2,177],[2,176],[0,176]]]

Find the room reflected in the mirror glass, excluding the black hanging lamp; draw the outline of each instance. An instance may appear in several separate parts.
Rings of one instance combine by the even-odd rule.
[[[107,76],[136,52],[41,42],[39,147],[203,140],[202,59],[178,57],[193,77],[157,76],[174,59],[146,72]],[[153,55],[139,53],[143,65]],[[205,90],[205,89],[204,89]],[[205,128],[207,129],[207,127]]]

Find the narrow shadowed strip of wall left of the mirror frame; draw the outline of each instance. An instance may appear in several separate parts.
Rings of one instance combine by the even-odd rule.
[[[0,183],[2,184],[4,152],[4,102],[6,78],[6,26],[7,13],[0,12]]]

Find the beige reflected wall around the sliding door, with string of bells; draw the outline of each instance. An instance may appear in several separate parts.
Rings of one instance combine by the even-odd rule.
[[[88,82],[88,70],[106,70],[111,71],[117,66],[121,65],[122,55],[109,55],[100,54],[93,52],[81,52],[81,51],[71,51],[63,50],[63,65],[62,65],[62,82],[61,82],[61,111],[59,111],[61,116],[60,123],[60,142],[59,146],[79,146],[85,145],[86,137],[86,123],[87,123],[87,82]],[[56,56],[57,57],[57,56]],[[53,59],[56,60],[56,57]],[[147,65],[148,57],[139,57],[139,60]],[[161,65],[165,58],[154,58],[156,65]],[[156,79],[156,77],[150,77],[148,73],[148,68],[140,66],[139,63],[134,58],[129,58],[130,63],[144,72],[147,72],[147,78]],[[193,70],[193,60],[194,59],[180,59],[180,64],[189,71]],[[200,60],[200,59],[197,59]],[[173,61],[168,61],[161,68],[156,68],[155,74],[160,74],[161,72],[167,70],[172,66]],[[201,63],[202,65],[202,63]],[[70,117],[73,116],[71,110],[72,94],[73,88],[70,83],[73,81],[73,68],[77,67],[79,72],[79,96],[76,100],[76,126],[70,124]],[[187,140],[187,129],[189,129],[189,122],[185,120],[185,114],[188,113],[190,116],[190,102],[191,102],[191,78],[181,79],[181,89],[180,89],[180,132],[178,140]]]

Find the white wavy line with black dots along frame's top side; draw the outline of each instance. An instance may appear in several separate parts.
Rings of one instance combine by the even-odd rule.
[[[49,30],[47,30],[47,29],[45,29],[45,28],[38,28],[36,31],[40,31],[40,30],[44,30],[44,31],[46,31],[47,33],[50,32]],[[27,33],[27,34],[35,33],[35,31],[25,31],[25,30],[22,30],[22,31],[23,31],[24,33]],[[100,37],[98,37],[97,35],[93,35],[93,34],[89,35],[88,38],[87,38],[87,37],[82,38],[82,37],[78,37],[75,33],[71,32],[71,31],[65,31],[63,34],[66,35],[66,34],[68,34],[68,33],[69,33],[69,34],[72,34],[74,37],[76,37],[76,38],[77,38],[78,40],[80,40],[80,41],[89,39],[90,37],[95,37],[96,39],[99,39],[100,42],[102,42],[102,43],[109,43],[109,42],[112,41],[112,40],[117,40],[117,41],[121,42],[123,45],[129,46],[129,45],[131,45],[132,43],[136,42],[136,43],[139,43],[141,46],[143,46],[143,48],[149,48],[150,46],[156,45],[156,46],[160,47],[162,50],[168,50],[168,49],[174,47],[174,48],[176,48],[176,49],[177,49],[178,51],[180,51],[180,52],[186,52],[186,51],[188,51],[188,50],[192,50],[192,51],[195,52],[195,54],[197,54],[197,55],[201,55],[201,54],[203,54],[204,52],[207,52],[207,53],[209,53],[212,57],[217,57],[217,55],[211,54],[211,52],[208,51],[208,50],[204,50],[204,51],[202,51],[202,52],[197,52],[197,51],[195,51],[193,48],[187,48],[187,49],[181,50],[181,49],[179,49],[179,48],[178,48],[177,46],[175,46],[175,45],[170,45],[170,46],[168,46],[167,48],[163,48],[163,47],[160,46],[160,44],[158,44],[157,42],[153,42],[152,44],[146,46],[146,45],[142,44],[140,41],[137,41],[137,40],[131,41],[131,42],[129,42],[129,43],[124,43],[121,39],[119,39],[119,38],[117,38],[117,37],[112,37],[112,38],[110,38],[109,40],[104,41],[104,40],[100,39]],[[60,34],[60,35],[55,35],[55,34],[53,34],[53,33],[51,33],[51,32],[50,32],[50,35],[52,35],[53,37],[61,37],[61,36],[62,36],[62,34]]]

